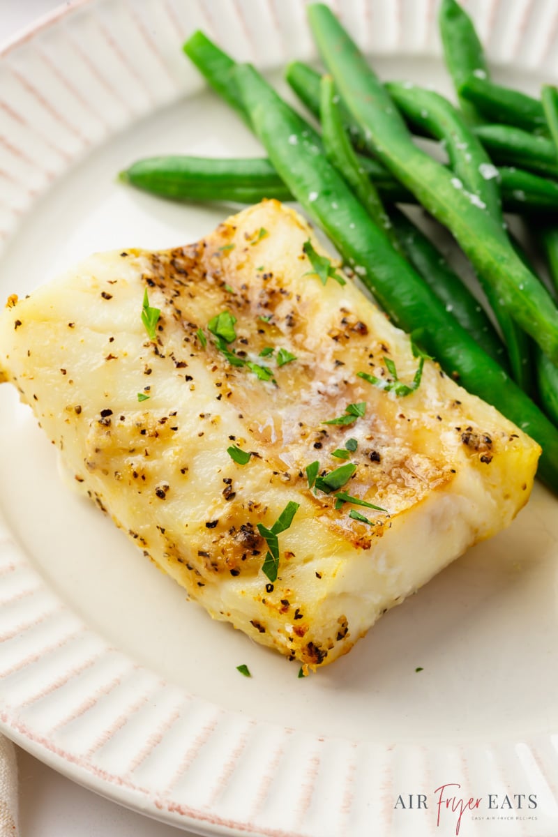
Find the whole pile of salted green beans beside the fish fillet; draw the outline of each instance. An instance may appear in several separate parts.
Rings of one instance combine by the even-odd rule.
[[[286,79],[320,133],[252,65],[197,32],[184,52],[268,156],[151,157],[120,178],[175,200],[298,200],[392,321],[539,442],[539,476],[558,491],[558,90],[545,85],[535,99],[495,85],[456,0],[442,0],[439,25],[458,108],[411,83],[382,84],[330,8],[314,3],[308,15],[327,74],[294,61]],[[438,141],[448,163],[411,131]],[[421,204],[453,234],[484,306],[398,203]],[[533,227],[550,283],[503,212]]]

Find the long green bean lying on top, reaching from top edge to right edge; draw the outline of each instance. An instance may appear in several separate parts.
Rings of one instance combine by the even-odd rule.
[[[370,131],[381,162],[428,212],[444,223],[498,300],[558,362],[558,311],[553,300],[514,253],[499,223],[453,183],[453,175],[412,141],[387,91],[377,80],[330,8],[310,5],[310,27],[346,105]]]

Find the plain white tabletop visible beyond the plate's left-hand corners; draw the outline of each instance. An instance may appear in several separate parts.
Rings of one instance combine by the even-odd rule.
[[[60,5],[61,0],[0,0],[0,44]],[[20,837],[193,837],[80,788],[19,748],[17,759]]]

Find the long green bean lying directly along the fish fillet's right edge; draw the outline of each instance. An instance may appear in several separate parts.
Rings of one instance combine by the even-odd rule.
[[[249,65],[235,72],[254,131],[284,182],[392,319],[422,342],[472,393],[493,403],[543,443],[540,477],[558,490],[558,430],[445,310],[443,303],[397,254],[325,155],[304,136],[307,123]],[[289,136],[297,136],[296,146]],[[331,203],[337,209],[331,212]]]

